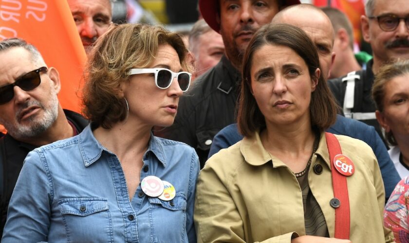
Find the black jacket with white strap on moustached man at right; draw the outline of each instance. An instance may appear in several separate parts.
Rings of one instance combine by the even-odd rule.
[[[356,74],[360,76],[360,79],[355,79],[355,90],[354,90],[354,106],[351,110],[353,113],[374,113],[376,110],[375,103],[372,99],[372,85],[374,80],[374,75],[372,72],[372,65],[373,60],[370,60],[367,63],[367,69],[356,71]],[[347,83],[342,82],[342,79],[345,78],[335,78],[328,80],[328,86],[330,87],[331,91],[334,93],[335,99],[337,100],[338,104],[343,107],[344,105],[344,98],[345,98],[345,90]],[[355,119],[354,117],[352,117]],[[375,130],[378,132],[379,136],[383,138],[380,125],[378,121],[374,119],[369,120],[361,120],[355,119],[358,121],[362,121],[368,125],[375,127]]]

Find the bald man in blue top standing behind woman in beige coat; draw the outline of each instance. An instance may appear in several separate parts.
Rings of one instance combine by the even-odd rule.
[[[307,33],[316,45],[321,73],[325,80],[327,80],[335,59],[335,53],[333,52],[334,29],[327,15],[314,5],[298,4],[281,10],[273,18],[272,22],[292,24]],[[387,200],[395,188],[395,185],[399,182],[400,177],[393,162],[390,160],[382,139],[376,133],[375,129],[363,122],[337,115],[335,124],[332,125],[327,132],[360,139],[372,147],[381,169]],[[227,148],[241,139],[242,135],[239,134],[236,124],[223,128],[213,139],[209,157],[222,148]]]

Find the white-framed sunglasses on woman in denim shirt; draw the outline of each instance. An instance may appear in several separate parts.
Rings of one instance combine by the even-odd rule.
[[[179,87],[186,92],[192,79],[192,74],[188,72],[172,72],[169,69],[130,69],[128,75],[154,73],[155,85],[158,88],[166,89],[172,84],[173,78],[178,79]]]

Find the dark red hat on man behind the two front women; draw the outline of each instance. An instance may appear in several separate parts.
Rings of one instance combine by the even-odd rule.
[[[284,0],[284,7],[299,4],[299,0]],[[219,9],[219,0],[199,0],[199,9],[206,23],[217,33],[220,31],[220,25],[217,22],[217,12]]]

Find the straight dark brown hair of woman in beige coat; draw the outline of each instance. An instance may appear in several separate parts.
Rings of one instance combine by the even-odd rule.
[[[252,136],[255,131],[265,127],[264,115],[251,94],[250,70],[254,53],[264,45],[270,44],[286,46],[297,52],[306,63],[311,77],[319,68],[316,47],[304,31],[289,24],[267,24],[260,28],[250,40],[243,58],[238,126],[244,136]],[[336,111],[334,96],[320,75],[316,90],[311,94],[311,125],[320,131],[327,129],[335,122]]]

